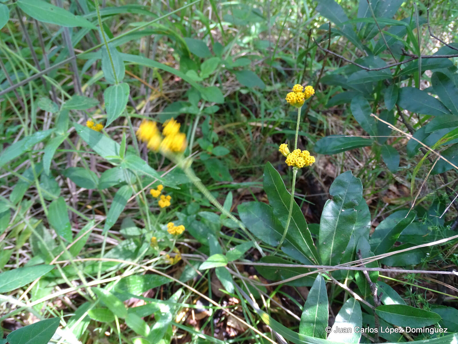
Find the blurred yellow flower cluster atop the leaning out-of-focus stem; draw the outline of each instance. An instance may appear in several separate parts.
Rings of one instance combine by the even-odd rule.
[[[137,130],[137,137],[140,141],[147,142],[150,150],[161,150],[164,153],[181,153],[186,149],[186,134],[180,133],[180,123],[173,118],[163,124],[162,135],[156,122],[144,120]]]

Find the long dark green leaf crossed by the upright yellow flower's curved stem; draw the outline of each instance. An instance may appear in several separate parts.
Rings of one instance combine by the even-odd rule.
[[[289,213],[291,194],[286,189],[280,174],[270,162],[267,162],[264,167],[263,187],[266,191],[269,203],[273,208],[273,213],[280,220],[282,227],[284,228],[284,226],[286,226]],[[285,239],[287,242],[294,243],[293,245],[284,244],[282,250],[286,254],[291,255],[294,252],[294,256],[297,258],[298,256],[295,253],[297,252],[300,253],[301,256],[305,256],[308,261],[316,264],[319,262],[319,256],[316,252],[316,247],[313,244],[313,239],[308,229],[307,222],[305,222],[304,214],[296,202],[293,202],[291,222]],[[304,260],[302,261],[304,264],[308,264]]]

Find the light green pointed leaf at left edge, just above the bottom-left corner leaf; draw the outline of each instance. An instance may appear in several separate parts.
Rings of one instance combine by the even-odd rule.
[[[44,274],[50,272],[53,265],[35,265],[18,267],[0,273],[0,293],[7,293],[11,290],[21,288]]]

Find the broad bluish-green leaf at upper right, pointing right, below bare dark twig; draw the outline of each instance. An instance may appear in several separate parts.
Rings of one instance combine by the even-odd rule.
[[[398,105],[405,110],[423,115],[450,115],[450,111],[439,100],[429,95],[426,91],[414,87],[402,87],[399,89]]]

